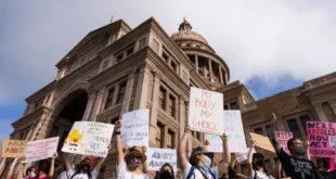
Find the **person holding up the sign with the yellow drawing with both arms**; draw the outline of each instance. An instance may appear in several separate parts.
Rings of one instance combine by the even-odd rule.
[[[70,158],[68,155],[63,155],[66,166],[66,175],[68,179],[95,179],[101,170],[102,164],[105,158],[100,158],[98,164],[94,166],[94,159],[91,156],[85,157],[75,169],[72,167]]]

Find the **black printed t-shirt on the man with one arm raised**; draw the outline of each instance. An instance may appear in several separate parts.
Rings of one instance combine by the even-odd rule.
[[[286,176],[292,179],[323,179],[311,161],[293,157],[283,149],[277,152],[277,157]]]

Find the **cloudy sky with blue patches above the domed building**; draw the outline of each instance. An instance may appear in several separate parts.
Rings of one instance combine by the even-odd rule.
[[[131,27],[154,16],[171,35],[183,17],[257,99],[335,71],[333,0],[0,1],[0,139],[25,99],[50,82],[54,66],[111,16]]]

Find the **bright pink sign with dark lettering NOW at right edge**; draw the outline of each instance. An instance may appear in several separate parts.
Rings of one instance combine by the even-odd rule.
[[[336,123],[307,122],[307,132],[311,156],[336,156]]]

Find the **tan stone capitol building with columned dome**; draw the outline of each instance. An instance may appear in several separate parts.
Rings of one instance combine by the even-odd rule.
[[[60,136],[61,151],[75,122],[114,124],[126,112],[150,108],[150,146],[176,149],[188,120],[190,87],[221,92],[224,110],[241,110],[248,145],[249,132],[267,136],[270,129],[271,122],[260,114],[246,87],[238,80],[230,81],[225,60],[185,20],[171,36],[153,17],[135,28],[116,21],[89,33],[56,67],[55,79],[26,99],[24,114],[12,124],[11,139]],[[336,123],[336,73],[289,91],[298,107],[279,116],[279,130],[307,139],[307,120]],[[193,148],[205,144],[204,133],[193,131],[188,156]],[[274,176],[276,155],[259,151]],[[113,146],[99,178],[115,178],[115,157]],[[7,161],[0,162],[0,170],[7,170]],[[246,174],[246,162],[235,169]]]

